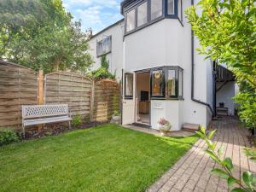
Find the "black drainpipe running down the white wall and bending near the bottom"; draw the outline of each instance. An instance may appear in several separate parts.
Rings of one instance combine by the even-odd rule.
[[[194,0],[191,0],[191,5],[193,6],[194,5]],[[194,48],[195,48],[195,45],[194,45],[194,32],[193,30],[191,29],[191,67],[192,67],[192,70],[191,70],[191,100],[193,102],[197,102],[197,103],[200,103],[202,105],[205,105],[207,106],[207,108],[209,108],[211,110],[211,113],[212,113],[212,119],[214,117],[214,113],[213,113],[213,110],[212,110],[212,107],[209,103],[207,102],[201,102],[200,100],[198,99],[195,99],[195,58],[194,58]]]

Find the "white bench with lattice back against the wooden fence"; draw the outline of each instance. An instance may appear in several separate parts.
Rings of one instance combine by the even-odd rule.
[[[25,137],[25,127],[29,125],[42,125],[49,123],[70,121],[68,105],[23,105],[22,106],[22,131]]]

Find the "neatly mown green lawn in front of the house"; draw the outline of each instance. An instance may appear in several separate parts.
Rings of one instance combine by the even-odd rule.
[[[155,137],[118,125],[0,148],[0,191],[144,191],[197,137]]]

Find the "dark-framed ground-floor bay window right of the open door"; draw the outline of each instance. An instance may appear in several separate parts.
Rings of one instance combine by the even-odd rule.
[[[151,69],[151,98],[183,99],[183,69],[159,67]]]

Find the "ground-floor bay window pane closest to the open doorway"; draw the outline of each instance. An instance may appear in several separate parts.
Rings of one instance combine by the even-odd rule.
[[[152,72],[152,96],[164,96],[163,71],[156,70]]]

